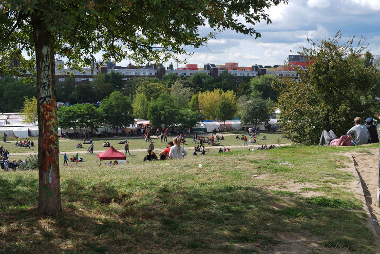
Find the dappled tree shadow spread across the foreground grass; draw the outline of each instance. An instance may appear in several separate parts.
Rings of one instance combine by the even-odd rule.
[[[2,181],[0,190],[24,185],[22,179]],[[137,198],[134,190],[123,192],[112,183],[63,182],[64,209],[58,216],[40,216],[31,208],[2,210],[0,250],[259,253],[280,244],[282,233],[294,232],[318,236],[322,247],[374,253],[366,216],[353,200],[284,197],[222,183],[220,187],[173,184],[152,187]],[[18,194],[31,199],[26,205],[36,203],[32,194]],[[4,199],[10,205],[16,195],[3,197],[2,203]]]

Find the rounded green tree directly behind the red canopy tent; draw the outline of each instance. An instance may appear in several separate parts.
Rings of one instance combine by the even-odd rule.
[[[114,91],[103,99],[98,110],[101,112],[104,123],[114,129],[134,122],[130,98],[119,91]]]

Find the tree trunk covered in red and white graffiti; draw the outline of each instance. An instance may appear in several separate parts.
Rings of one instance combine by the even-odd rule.
[[[37,112],[39,121],[39,205],[43,214],[62,210],[56,116],[54,38],[44,21],[32,17],[37,68]]]

